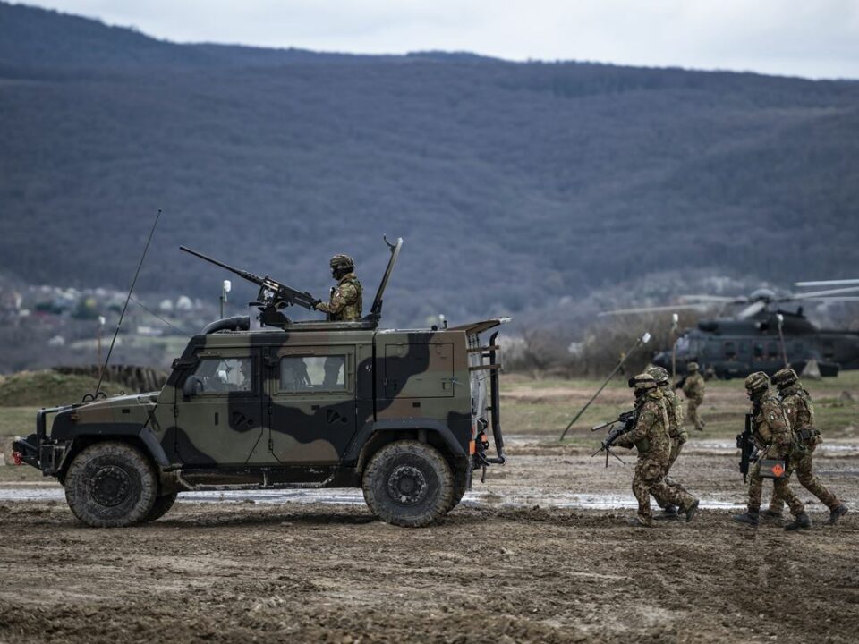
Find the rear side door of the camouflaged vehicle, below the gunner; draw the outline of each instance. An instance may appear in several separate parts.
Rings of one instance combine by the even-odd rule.
[[[268,445],[276,462],[338,462],[357,430],[355,347],[269,351]]]

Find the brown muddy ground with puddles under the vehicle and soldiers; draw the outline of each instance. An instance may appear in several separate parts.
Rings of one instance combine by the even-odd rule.
[[[708,509],[649,530],[624,522],[632,458],[606,470],[549,436],[511,438],[510,462],[423,530],[348,495],[195,500],[91,530],[58,488],[20,501],[37,484],[7,482],[0,642],[855,642],[859,445],[826,447],[818,470],[851,513],[827,526],[810,504],[799,534],[730,521],[742,479],[709,436],[677,469]]]

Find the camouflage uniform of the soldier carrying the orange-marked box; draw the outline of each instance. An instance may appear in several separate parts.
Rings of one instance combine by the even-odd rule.
[[[805,513],[805,506],[799,496],[788,485],[795,460],[791,458],[793,439],[790,422],[778,398],[765,389],[760,398],[753,402],[752,436],[761,456],[749,470],[749,513],[757,516],[761,509],[761,459],[785,459],[785,474],[781,479],[773,479],[775,495],[790,506],[790,512],[798,517]]]

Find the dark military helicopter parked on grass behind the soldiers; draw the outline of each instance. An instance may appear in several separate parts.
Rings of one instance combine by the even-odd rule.
[[[797,286],[859,284],[859,280],[797,283]],[[838,376],[839,369],[859,369],[859,332],[821,329],[803,314],[803,307],[790,311],[780,305],[793,301],[859,301],[859,285],[824,291],[796,292],[778,296],[761,288],[746,297],[685,295],[674,306],[616,309],[600,315],[649,313],[698,309],[714,304],[744,305],[733,318],[703,318],[695,328],[677,335],[673,352],[659,352],[653,363],[678,373],[695,361],[705,372],[719,378],[745,377],[754,371],[772,375],[790,365],[802,372],[816,360],[821,376]]]

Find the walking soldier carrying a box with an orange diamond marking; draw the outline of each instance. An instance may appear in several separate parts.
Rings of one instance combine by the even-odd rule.
[[[770,378],[763,371],[757,371],[745,378],[745,390],[752,401],[752,438],[760,457],[749,470],[749,505],[744,514],[736,514],[734,521],[757,526],[761,510],[761,459],[784,460],[785,470],[778,479],[773,479],[775,495],[787,502],[794,521],[785,530],[811,528],[812,521],[805,513],[805,506],[799,496],[788,485],[788,479],[795,465],[795,445],[790,422],[784,407],[776,396],[770,393]],[[794,458],[792,458],[792,456]]]

